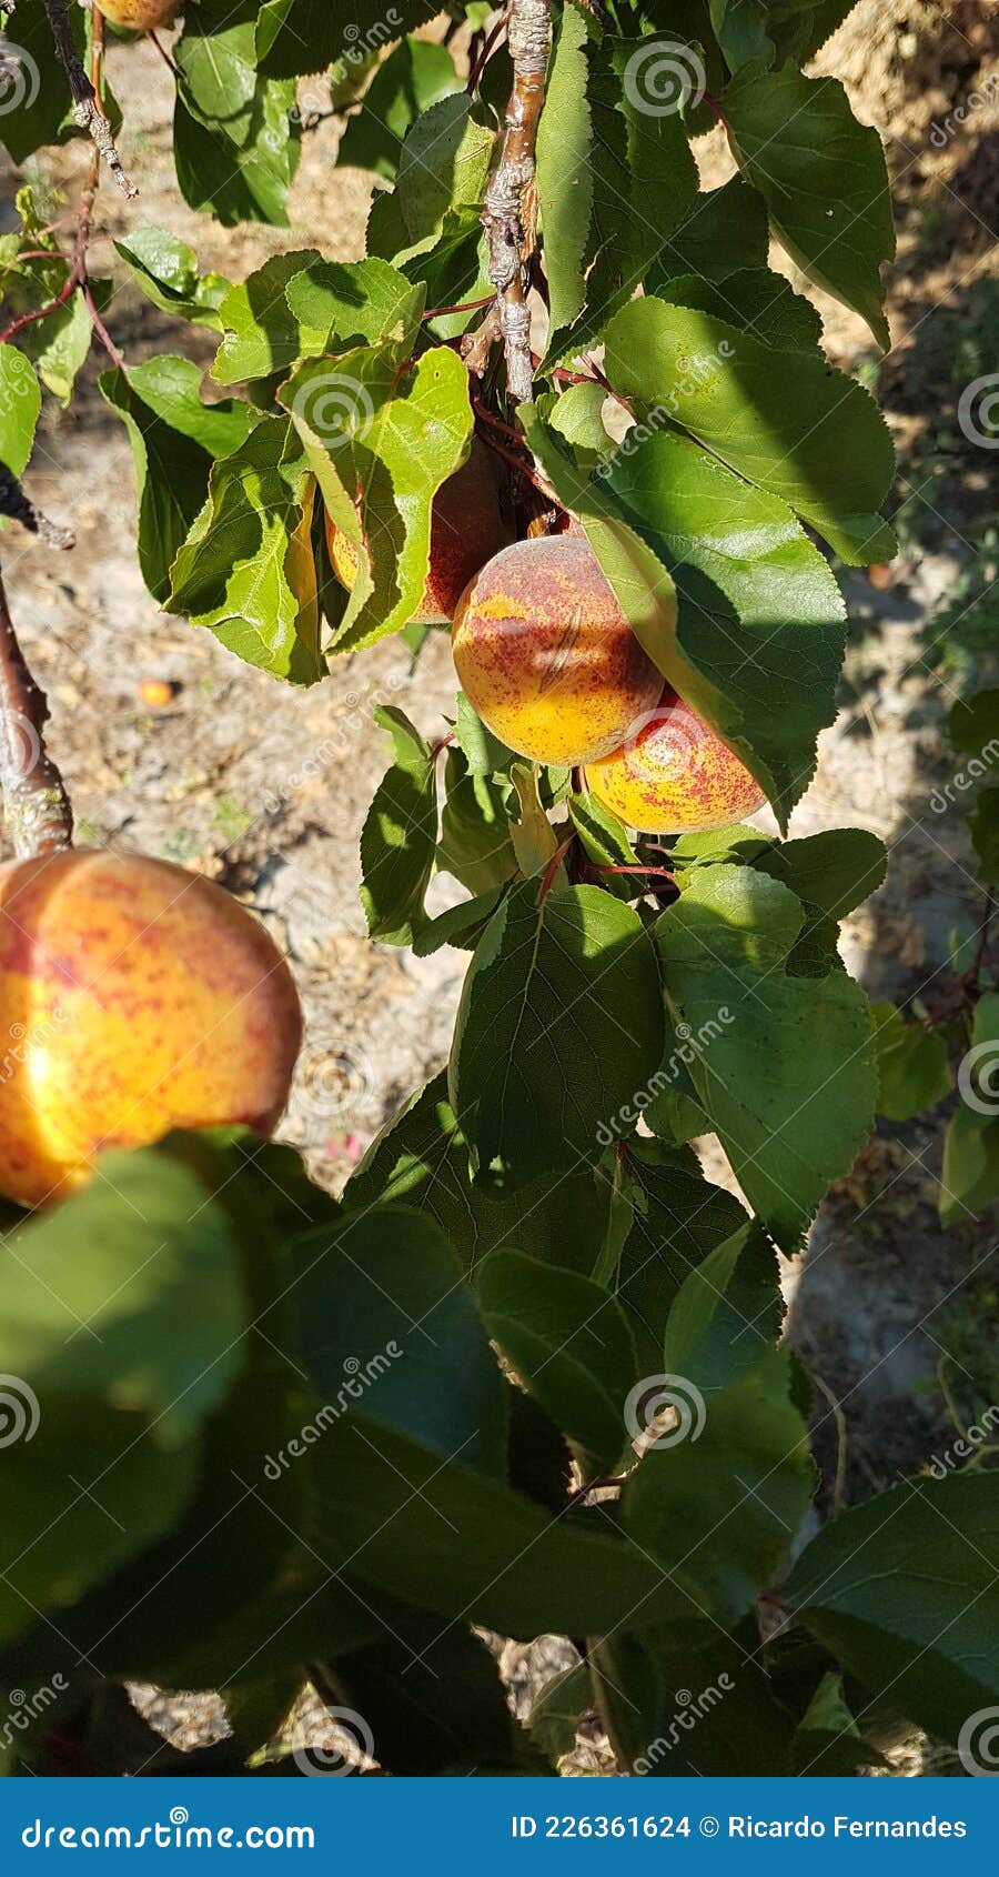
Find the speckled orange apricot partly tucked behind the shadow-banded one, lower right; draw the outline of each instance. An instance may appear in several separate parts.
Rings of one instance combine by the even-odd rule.
[[[755,775],[669,687],[620,749],[587,764],[587,785],[641,833],[727,828],[767,800]]]

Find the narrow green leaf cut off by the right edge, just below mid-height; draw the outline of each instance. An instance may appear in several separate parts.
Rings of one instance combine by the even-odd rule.
[[[960,1107],[943,1137],[941,1220],[962,1224],[999,1199],[999,993],[975,1004],[971,1049],[958,1068]]]

